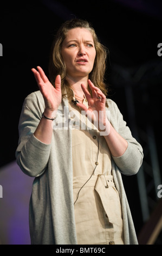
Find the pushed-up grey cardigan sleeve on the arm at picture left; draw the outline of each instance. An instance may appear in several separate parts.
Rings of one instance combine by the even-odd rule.
[[[18,124],[19,141],[16,150],[16,161],[22,171],[29,176],[40,176],[47,167],[50,144],[39,141],[34,132],[41,119],[43,104],[38,102],[37,95],[31,93],[23,103]]]

